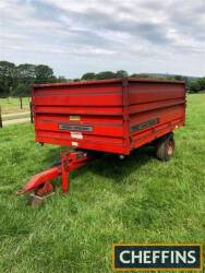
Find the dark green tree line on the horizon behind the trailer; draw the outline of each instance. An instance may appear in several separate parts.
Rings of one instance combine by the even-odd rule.
[[[15,66],[9,61],[0,61],[0,96],[27,96],[31,94],[32,86],[38,83],[55,83],[55,82],[70,82],[70,81],[93,81],[105,79],[118,79],[124,76],[140,76],[140,78],[158,78],[173,81],[185,81],[191,93],[205,91],[205,78],[188,78],[182,75],[168,74],[149,74],[138,73],[129,74],[124,70],[117,72],[102,71],[99,73],[87,72],[80,79],[65,79],[64,76],[56,76],[52,68],[45,64],[23,63]]]

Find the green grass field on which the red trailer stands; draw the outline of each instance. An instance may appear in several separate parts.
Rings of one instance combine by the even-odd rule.
[[[205,94],[188,100],[169,163],[148,147],[123,162],[106,156],[38,209],[15,191],[60,149],[36,144],[28,123],[0,130],[0,272],[105,273],[114,242],[205,244]]]

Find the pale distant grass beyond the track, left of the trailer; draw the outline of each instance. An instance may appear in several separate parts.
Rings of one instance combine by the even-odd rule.
[[[2,114],[12,114],[12,112],[21,112],[29,110],[29,98],[22,98],[23,109],[21,109],[20,98],[17,97],[9,97],[9,98],[0,98],[0,107]]]

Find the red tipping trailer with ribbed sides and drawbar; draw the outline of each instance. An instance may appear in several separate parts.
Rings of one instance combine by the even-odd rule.
[[[174,150],[172,131],[185,122],[185,84],[140,78],[40,84],[33,88],[32,104],[36,141],[75,152],[63,155],[53,176],[37,175],[41,182],[31,180],[22,192],[39,186],[44,192],[47,180],[57,174],[63,177],[63,166],[67,191],[68,173],[86,164],[93,157],[89,151],[122,157],[153,143],[157,157],[169,159]]]

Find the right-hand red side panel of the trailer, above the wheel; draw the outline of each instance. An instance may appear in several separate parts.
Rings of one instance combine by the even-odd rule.
[[[185,86],[178,82],[130,82],[131,149],[140,147],[184,124]]]

